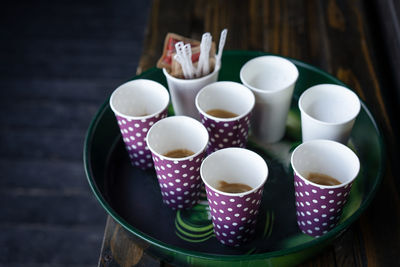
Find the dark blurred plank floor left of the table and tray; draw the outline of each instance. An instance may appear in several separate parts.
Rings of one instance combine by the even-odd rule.
[[[82,151],[136,74],[151,1],[0,3],[0,266],[96,266],[106,212]]]

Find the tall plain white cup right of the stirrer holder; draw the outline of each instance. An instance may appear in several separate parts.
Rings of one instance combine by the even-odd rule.
[[[252,132],[259,141],[275,143],[284,136],[298,77],[296,66],[278,56],[256,57],[241,68],[240,80],[256,97]]]

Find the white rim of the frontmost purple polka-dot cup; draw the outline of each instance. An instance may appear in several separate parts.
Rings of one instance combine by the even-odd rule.
[[[216,153],[223,153],[223,152],[225,152],[226,150],[248,151],[248,152],[251,152],[252,154],[254,154],[257,158],[261,159],[261,160],[264,162],[264,164],[265,164],[265,172],[266,172],[265,177],[263,178],[263,181],[262,181],[258,186],[254,187],[253,189],[251,189],[251,190],[249,190],[249,191],[246,191],[246,192],[241,192],[241,193],[227,193],[227,192],[224,192],[224,191],[221,191],[221,190],[215,188],[214,186],[211,186],[205,179],[203,179],[203,175],[202,175],[202,174],[203,174],[204,164],[207,164],[207,161],[210,160],[210,158],[212,158],[213,155],[215,156]],[[227,147],[227,148],[223,148],[223,149],[217,150],[217,151],[211,153],[210,155],[208,155],[208,156],[203,160],[203,162],[201,163],[201,166],[200,166],[200,177],[201,177],[201,180],[203,181],[203,183],[204,183],[205,185],[207,185],[209,188],[211,188],[213,191],[215,191],[216,193],[218,193],[218,194],[220,194],[220,195],[223,195],[223,196],[230,196],[230,197],[244,197],[244,196],[247,196],[247,195],[249,195],[249,194],[251,194],[251,193],[253,193],[253,192],[259,190],[259,189],[262,188],[262,187],[265,185],[265,183],[267,182],[267,180],[268,180],[268,175],[269,175],[269,168],[268,168],[268,165],[267,165],[267,163],[265,162],[265,160],[264,160],[260,155],[258,155],[256,152],[251,151],[251,150],[246,149],[246,148],[240,148],[240,147]]]

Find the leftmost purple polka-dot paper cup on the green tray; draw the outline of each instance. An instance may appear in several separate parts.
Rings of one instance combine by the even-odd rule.
[[[167,89],[151,80],[133,80],[122,84],[112,93],[110,106],[134,167],[153,168],[145,139],[150,127],[167,117],[168,103]]]

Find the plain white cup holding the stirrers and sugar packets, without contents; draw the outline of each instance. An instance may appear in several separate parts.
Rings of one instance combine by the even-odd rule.
[[[201,88],[218,80],[220,67],[216,67],[208,75],[196,79],[178,79],[171,76],[166,69],[163,73],[167,78],[172,106],[175,115],[185,115],[197,120],[200,119],[195,106],[195,98]]]

